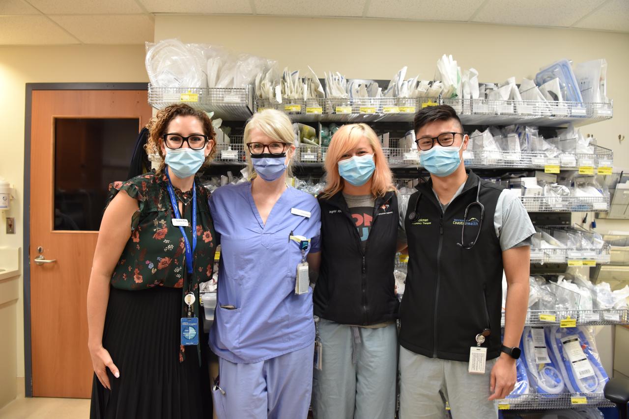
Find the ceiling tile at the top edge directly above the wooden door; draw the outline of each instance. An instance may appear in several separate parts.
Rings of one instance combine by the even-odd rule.
[[[44,14],[143,13],[134,0],[26,0]]]

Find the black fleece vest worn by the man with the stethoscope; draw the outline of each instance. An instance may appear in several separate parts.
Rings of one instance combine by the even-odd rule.
[[[481,226],[481,211],[474,205],[467,215],[464,243],[473,241],[479,229],[481,232],[476,246],[464,249],[457,243],[465,208],[476,201],[479,181],[484,220]],[[483,346],[487,359],[493,359],[501,347],[503,277],[494,213],[503,188],[469,171],[464,189],[444,214],[431,187],[431,182],[425,183],[411,195],[404,220],[409,263],[400,307],[400,344],[428,357],[469,361],[476,335],[490,329]],[[417,200],[418,219],[412,222],[409,218]]]

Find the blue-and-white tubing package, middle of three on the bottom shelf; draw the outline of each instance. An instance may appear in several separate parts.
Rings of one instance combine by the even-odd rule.
[[[555,358],[544,329],[525,327],[522,335],[523,364],[526,366],[531,393],[554,397],[566,393],[564,377]]]

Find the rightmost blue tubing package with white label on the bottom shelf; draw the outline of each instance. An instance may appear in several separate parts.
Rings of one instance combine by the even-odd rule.
[[[547,338],[571,393],[603,393],[610,378],[601,365],[589,328],[549,327]]]

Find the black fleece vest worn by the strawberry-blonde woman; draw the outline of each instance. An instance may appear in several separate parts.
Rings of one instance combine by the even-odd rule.
[[[398,237],[398,197],[376,199],[367,246],[362,250],[341,192],[321,205],[321,268],[313,295],[315,315],[340,324],[371,325],[398,317],[393,276]]]

